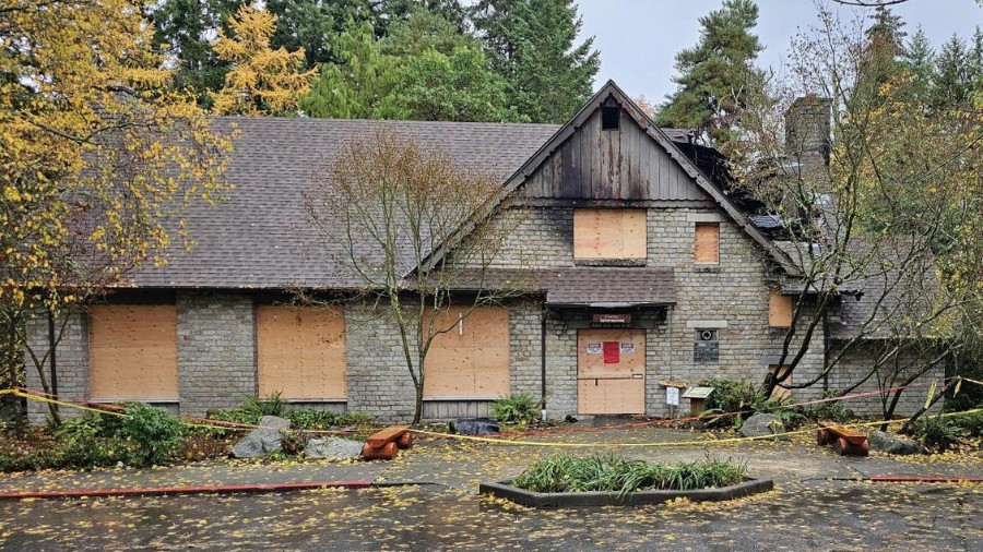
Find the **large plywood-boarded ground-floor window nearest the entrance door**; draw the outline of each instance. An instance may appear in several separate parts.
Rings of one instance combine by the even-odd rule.
[[[424,398],[497,398],[509,394],[509,311],[501,307],[442,310],[424,364]]]

